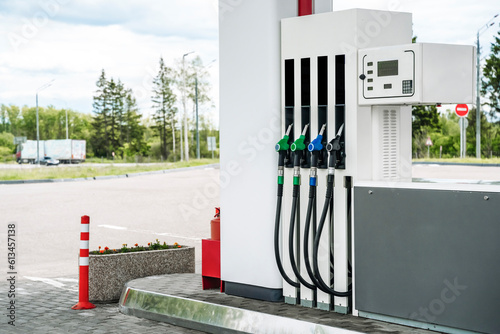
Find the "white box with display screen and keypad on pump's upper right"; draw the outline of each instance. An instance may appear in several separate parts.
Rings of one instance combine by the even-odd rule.
[[[473,46],[416,43],[358,51],[360,105],[473,103]]]

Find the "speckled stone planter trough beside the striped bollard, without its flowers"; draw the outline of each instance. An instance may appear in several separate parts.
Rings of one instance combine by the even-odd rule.
[[[126,282],[146,276],[194,273],[194,247],[89,256],[89,300],[117,301]]]

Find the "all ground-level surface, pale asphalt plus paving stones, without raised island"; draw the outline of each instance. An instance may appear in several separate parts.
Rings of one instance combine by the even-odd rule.
[[[416,165],[417,178],[500,180],[500,167]],[[2,333],[199,333],[126,316],[116,304],[74,311],[78,301],[80,217],[89,215],[90,249],[154,239],[196,247],[219,205],[219,170],[209,167],[169,174],[98,181],[0,185],[0,240],[15,226],[15,298],[9,250],[0,249]],[[15,325],[11,300],[15,299]]]

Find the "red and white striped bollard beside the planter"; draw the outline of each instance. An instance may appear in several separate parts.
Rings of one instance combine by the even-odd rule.
[[[89,216],[82,216],[80,230],[80,289],[78,293],[78,304],[72,307],[73,310],[86,310],[95,308],[89,302]]]

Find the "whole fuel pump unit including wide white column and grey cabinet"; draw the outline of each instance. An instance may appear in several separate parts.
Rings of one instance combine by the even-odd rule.
[[[269,15],[255,25],[263,7]],[[475,48],[412,44],[410,13],[295,11],[256,0],[220,21],[221,128],[245,124],[221,132],[226,293],[497,332],[500,190],[411,182],[411,106],[473,103]],[[270,143],[249,150],[276,119],[277,154]],[[454,198],[473,205],[462,211]]]

